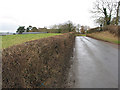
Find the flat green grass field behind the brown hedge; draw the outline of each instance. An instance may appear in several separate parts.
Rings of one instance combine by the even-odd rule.
[[[21,34],[21,35],[0,36],[0,38],[2,38],[2,49],[4,49],[4,48],[8,48],[13,45],[24,43],[26,41],[46,38],[46,37],[50,37],[54,35],[61,35],[61,34],[58,34],[58,33]]]

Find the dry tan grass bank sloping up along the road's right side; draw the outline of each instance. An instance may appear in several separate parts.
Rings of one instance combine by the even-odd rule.
[[[93,38],[96,38],[96,39],[100,39],[100,40],[103,40],[103,41],[108,41],[108,42],[115,43],[115,44],[120,44],[120,41],[118,40],[118,37],[115,36],[114,34],[111,34],[108,31],[91,33],[91,34],[87,34],[87,36],[93,37]]]

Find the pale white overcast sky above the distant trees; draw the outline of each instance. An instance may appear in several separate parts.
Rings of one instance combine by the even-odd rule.
[[[1,0],[0,32],[19,26],[49,27],[68,20],[94,27],[90,10],[95,0]]]

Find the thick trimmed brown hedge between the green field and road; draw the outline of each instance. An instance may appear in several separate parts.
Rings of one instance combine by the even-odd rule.
[[[2,87],[61,87],[73,43],[74,35],[69,33],[4,49]]]

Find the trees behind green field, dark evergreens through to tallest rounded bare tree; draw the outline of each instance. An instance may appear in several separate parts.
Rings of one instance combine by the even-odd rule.
[[[25,26],[19,26],[17,29],[17,33],[22,34],[23,32],[47,32],[47,33],[66,33],[75,31],[76,26],[71,22],[68,21],[63,24],[53,25],[50,29],[44,28],[36,28],[32,26],[28,26],[25,29]]]

